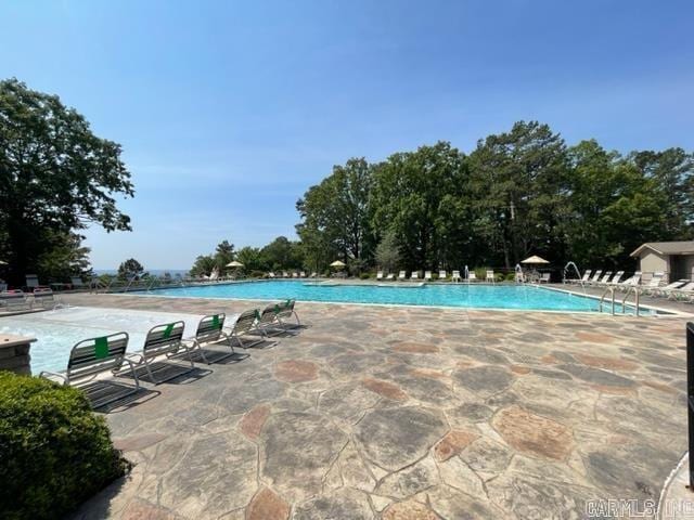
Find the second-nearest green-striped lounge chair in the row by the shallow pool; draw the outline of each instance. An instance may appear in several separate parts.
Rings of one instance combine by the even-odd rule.
[[[193,370],[193,358],[189,349],[183,344],[183,330],[185,323],[182,321],[174,323],[164,323],[152,327],[144,339],[144,346],[141,352],[130,354],[128,359],[138,365],[144,365],[150,376],[150,380],[155,385],[166,382],[175,377],[182,376]],[[190,367],[185,366],[183,372],[170,370],[169,363],[157,363],[156,359],[166,358],[167,360],[183,354],[190,362]],[[179,365],[180,366],[180,365]],[[163,377],[159,375],[163,374]]]

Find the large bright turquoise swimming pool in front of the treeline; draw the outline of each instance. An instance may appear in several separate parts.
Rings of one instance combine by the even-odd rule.
[[[309,281],[267,281],[176,287],[140,295],[245,300],[292,298],[299,301],[536,311],[595,312],[599,310],[599,301],[594,298],[530,285],[398,283],[323,285]],[[632,309],[628,307],[627,312],[630,311]],[[618,312],[621,312],[621,308]],[[642,312],[648,314],[653,311],[642,308]]]

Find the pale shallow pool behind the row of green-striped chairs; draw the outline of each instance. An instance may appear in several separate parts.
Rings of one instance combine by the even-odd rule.
[[[82,339],[126,332],[128,351],[142,349],[144,337],[155,325],[178,320],[185,322],[187,336],[195,333],[202,316],[169,312],[123,309],[68,308],[55,311],[0,317],[0,333],[33,336],[31,373],[60,372],[67,368],[69,351]]]

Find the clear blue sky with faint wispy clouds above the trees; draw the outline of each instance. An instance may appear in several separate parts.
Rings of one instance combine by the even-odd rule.
[[[89,230],[94,268],[187,269],[294,236],[296,199],[352,156],[470,152],[518,119],[693,150],[692,20],[691,0],[0,0],[0,77],[124,146],[134,231]]]

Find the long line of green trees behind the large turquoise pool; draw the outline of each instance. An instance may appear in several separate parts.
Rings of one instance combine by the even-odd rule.
[[[679,147],[622,155],[518,121],[470,154],[439,141],[335,166],[296,204],[298,242],[279,237],[234,258],[247,270],[319,272],[339,259],[355,273],[513,269],[530,255],[629,269],[644,242],[694,237],[693,173],[694,154]]]

